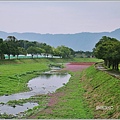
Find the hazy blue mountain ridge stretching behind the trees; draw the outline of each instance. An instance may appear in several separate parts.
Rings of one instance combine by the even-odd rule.
[[[0,31],[0,38],[6,39],[9,35],[15,36],[18,40],[38,41],[54,47],[65,45],[75,51],[92,51],[102,36],[114,37],[120,40],[120,28],[112,32],[82,32],[76,34],[7,33]]]

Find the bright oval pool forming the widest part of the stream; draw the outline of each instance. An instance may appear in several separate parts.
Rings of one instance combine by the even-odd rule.
[[[69,78],[69,74],[42,74],[39,77],[30,80],[28,86],[36,93],[39,91],[51,93],[62,87],[64,83],[67,83]]]

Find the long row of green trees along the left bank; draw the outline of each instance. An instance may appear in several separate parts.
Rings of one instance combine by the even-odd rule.
[[[14,36],[8,36],[6,40],[0,38],[0,59],[5,59],[4,54],[8,55],[41,55],[44,53],[48,57],[49,54],[52,56],[60,56],[62,58],[68,58],[74,55],[74,50],[66,46],[58,46],[54,48],[46,43],[39,43],[36,41],[30,42],[27,40],[17,40]]]

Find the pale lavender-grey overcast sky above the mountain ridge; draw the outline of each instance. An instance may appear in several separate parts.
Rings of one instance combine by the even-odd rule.
[[[74,34],[118,28],[120,1],[0,1],[0,31]]]

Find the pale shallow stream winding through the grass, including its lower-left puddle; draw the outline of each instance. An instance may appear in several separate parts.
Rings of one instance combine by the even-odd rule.
[[[55,72],[55,69],[49,72],[45,72],[39,77],[33,78],[28,82],[28,87],[30,88],[29,92],[12,94],[9,96],[0,96],[0,102],[7,103],[10,100],[26,99],[35,95],[53,93],[58,88],[66,84],[69,81],[70,77],[70,74],[58,73]],[[18,114],[20,112],[24,112],[28,108],[31,109],[37,105],[37,103],[25,103],[23,106],[17,105],[15,108],[8,105],[0,105],[0,113]]]

